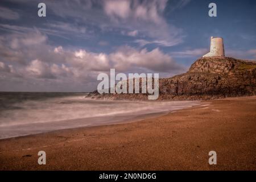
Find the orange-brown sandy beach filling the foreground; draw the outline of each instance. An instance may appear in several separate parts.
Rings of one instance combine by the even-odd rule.
[[[226,98],[138,122],[2,139],[0,169],[255,170],[255,108],[256,96]]]

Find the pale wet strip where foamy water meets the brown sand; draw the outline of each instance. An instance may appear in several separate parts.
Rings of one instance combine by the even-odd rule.
[[[126,102],[126,101],[120,101],[120,102]],[[127,102],[130,103],[131,101],[127,101]],[[145,101],[142,101],[142,103],[143,102]],[[170,103],[172,101],[166,101],[166,102]],[[58,130],[69,130],[69,129],[78,129],[82,127],[138,122],[143,119],[159,117],[161,115],[168,114],[171,111],[186,109],[186,108],[201,104],[201,101],[173,101],[173,102],[174,103],[179,102],[180,104],[183,103],[183,105],[181,106],[171,105],[169,109],[163,109],[163,110],[150,110],[150,111],[142,110],[141,113],[128,112],[128,113],[119,113],[114,115],[107,114],[104,116],[102,115],[102,116],[85,117],[85,118],[63,119],[60,121],[47,121],[47,122],[38,122],[38,123],[24,123],[19,125],[1,126],[0,140],[17,138],[17,137],[26,137],[26,136],[35,135],[35,134],[50,133]]]

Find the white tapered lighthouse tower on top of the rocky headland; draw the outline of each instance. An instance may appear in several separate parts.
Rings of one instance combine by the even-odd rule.
[[[210,52],[203,57],[225,57],[223,38],[210,37]]]

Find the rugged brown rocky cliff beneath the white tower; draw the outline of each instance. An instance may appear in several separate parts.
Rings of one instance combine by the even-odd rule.
[[[231,57],[202,57],[187,73],[159,79],[159,100],[210,100],[256,95],[256,63]],[[104,94],[146,100],[146,94]]]

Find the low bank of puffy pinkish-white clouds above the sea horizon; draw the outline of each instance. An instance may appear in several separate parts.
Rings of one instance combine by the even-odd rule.
[[[43,84],[49,90],[55,90],[53,88],[58,86],[63,89],[61,85],[69,84],[76,85],[76,89],[73,89],[81,91],[84,87],[95,89],[98,73],[108,73],[110,68],[126,73],[171,74],[185,71],[182,65],[159,48],[148,51],[124,46],[107,54],[53,47],[48,42],[48,37],[38,30],[0,36],[0,82],[6,82],[8,77],[6,84],[9,85],[12,80],[19,79],[19,82],[30,85],[27,88],[33,88],[33,83],[40,82],[42,89]]]

